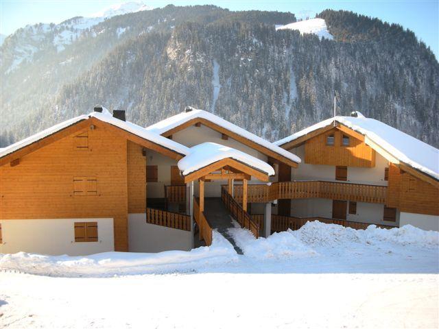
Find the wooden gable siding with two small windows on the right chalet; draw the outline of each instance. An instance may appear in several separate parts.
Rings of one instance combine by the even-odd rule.
[[[334,135],[335,145],[327,145],[327,136]],[[343,133],[337,128],[314,136],[305,142],[305,163],[346,167],[375,167],[375,150],[353,136],[349,146],[342,146]]]

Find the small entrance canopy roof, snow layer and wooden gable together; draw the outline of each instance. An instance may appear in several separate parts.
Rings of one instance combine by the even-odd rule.
[[[185,182],[193,180],[250,180],[251,176],[268,182],[274,175],[270,164],[242,151],[219,145],[202,143],[189,150],[189,154],[178,161]]]

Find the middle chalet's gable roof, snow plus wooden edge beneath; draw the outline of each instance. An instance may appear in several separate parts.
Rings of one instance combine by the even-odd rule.
[[[146,130],[163,136],[169,136],[172,132],[184,129],[196,122],[209,125],[209,127],[212,127],[213,129],[216,127],[226,130],[231,138],[236,139],[235,137],[241,137],[241,143],[245,143],[252,148],[254,148],[255,145],[259,145],[264,149],[261,153],[272,156],[273,158],[281,157],[283,160],[290,162],[290,165],[294,164],[294,167],[296,167],[296,164],[300,163],[300,158],[295,154],[292,154],[291,152],[274,145],[274,143],[270,143],[269,141],[266,141],[265,139],[204,110],[191,109],[187,112],[176,114],[173,117],[169,117],[158,123],[154,123],[154,125],[146,127]],[[234,135],[236,136],[234,137]]]

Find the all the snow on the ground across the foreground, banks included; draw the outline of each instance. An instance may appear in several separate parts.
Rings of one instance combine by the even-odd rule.
[[[311,222],[268,239],[230,233],[244,255],[214,232],[211,247],[191,252],[2,256],[1,326],[439,326],[438,232]]]

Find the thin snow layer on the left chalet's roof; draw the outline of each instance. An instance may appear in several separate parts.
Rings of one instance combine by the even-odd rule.
[[[11,154],[14,151],[17,151],[19,149],[22,149],[23,147],[26,147],[27,145],[30,145],[32,143],[35,143],[37,141],[40,141],[40,139],[43,139],[47,136],[50,136],[51,134],[54,134],[64,128],[67,128],[75,123],[78,123],[80,121],[90,119],[90,118],[96,118],[100,121],[104,121],[106,123],[110,123],[111,125],[115,125],[122,130],[126,130],[127,132],[131,132],[132,134],[135,134],[141,138],[146,139],[147,141],[151,141],[153,143],[156,143],[158,145],[162,145],[163,147],[166,147],[167,149],[171,149],[172,151],[176,151],[178,154],[187,155],[189,154],[189,148],[185,147],[185,145],[181,145],[179,143],[176,143],[174,141],[171,141],[169,138],[165,138],[163,136],[160,136],[158,134],[154,134],[154,132],[150,132],[145,130],[144,127],[141,127],[139,125],[135,125],[134,123],[130,123],[127,121],[122,121],[119,119],[116,119],[115,117],[112,117],[110,112],[104,108],[102,113],[100,112],[91,112],[90,114],[82,114],[78,117],[74,117],[73,119],[66,120],[62,123],[58,123],[58,125],[54,125],[52,127],[47,128],[46,130],[43,130],[42,132],[38,132],[32,136],[29,136],[17,143],[14,143],[12,145],[9,145],[8,147],[4,147],[3,149],[0,149],[0,158],[3,156],[7,156],[8,154]]]

